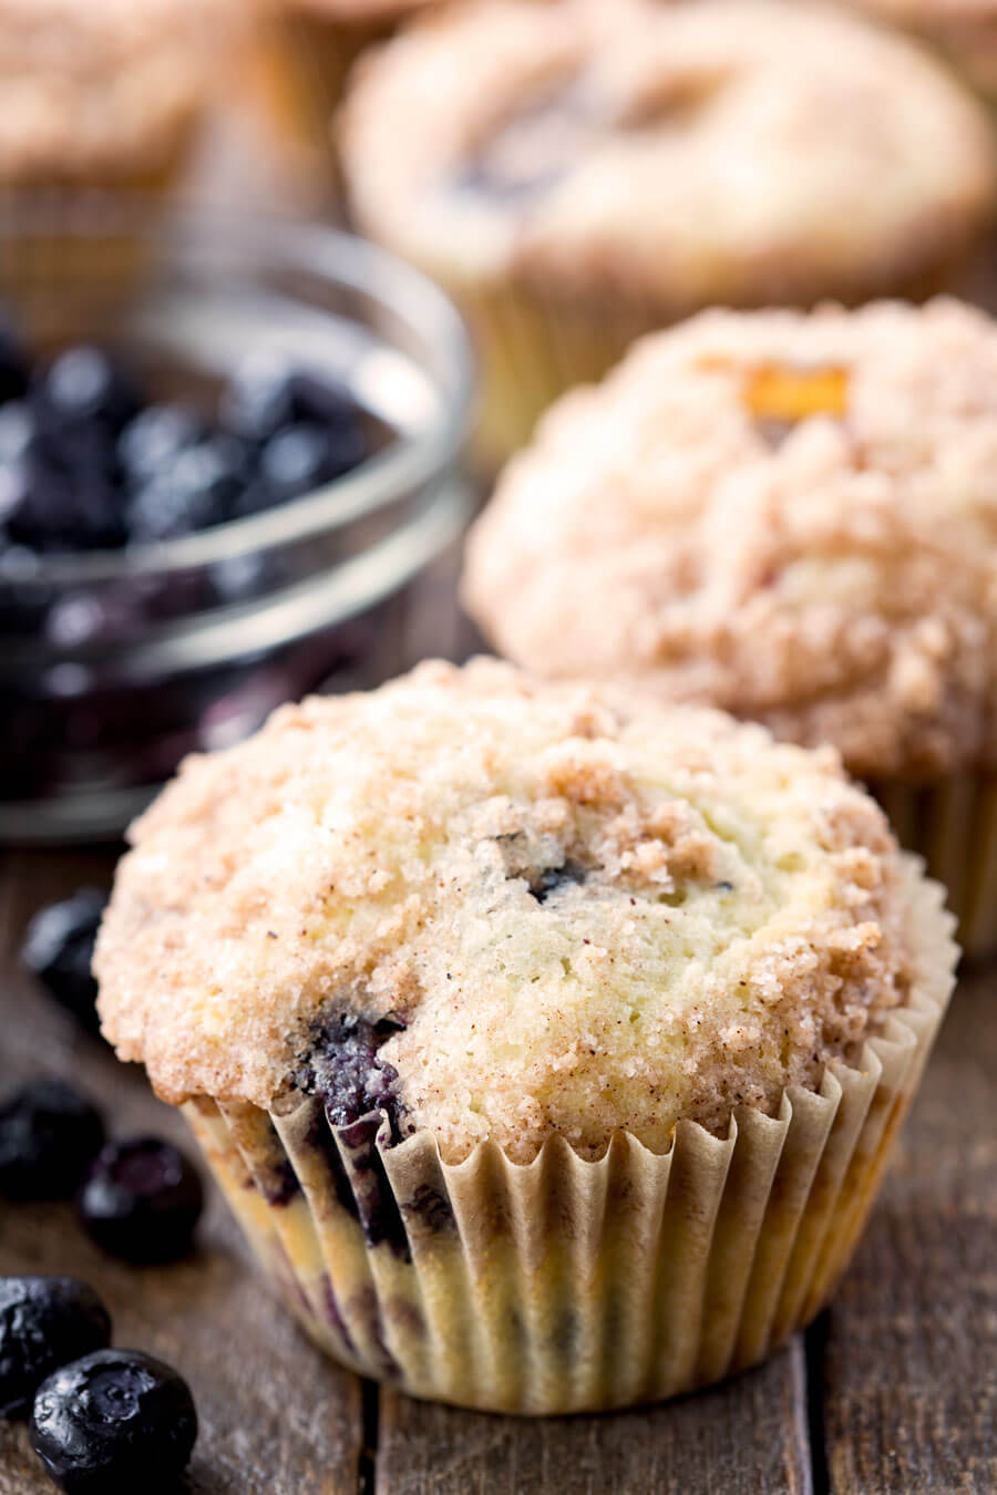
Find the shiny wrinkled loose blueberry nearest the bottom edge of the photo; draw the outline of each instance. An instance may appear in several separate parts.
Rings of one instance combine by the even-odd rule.
[[[48,1377],[31,1447],[67,1495],[135,1495],[175,1485],[197,1438],[187,1383],[139,1350],[97,1350]]]

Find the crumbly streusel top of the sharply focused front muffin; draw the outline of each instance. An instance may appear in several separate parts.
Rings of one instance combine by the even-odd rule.
[[[284,707],[132,842],[118,1054],[172,1102],[383,1106],[448,1160],[773,1109],[912,979],[909,864],[831,750],[496,661]]]

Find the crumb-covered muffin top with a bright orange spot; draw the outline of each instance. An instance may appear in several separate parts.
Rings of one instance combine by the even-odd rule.
[[[640,680],[861,774],[997,759],[997,327],[952,300],[706,312],[565,396],[465,601],[549,676]]]

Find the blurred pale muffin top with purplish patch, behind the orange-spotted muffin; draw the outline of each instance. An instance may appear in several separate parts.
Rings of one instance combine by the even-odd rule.
[[[429,269],[671,315],[915,284],[994,193],[925,54],[779,0],[469,0],[360,63],[342,142],[360,221]]]

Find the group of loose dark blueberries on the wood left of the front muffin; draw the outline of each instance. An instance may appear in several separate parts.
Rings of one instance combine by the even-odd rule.
[[[84,888],[43,909],[22,949],[90,1029],[103,903]],[[135,1265],[187,1256],[203,1208],[200,1178],[178,1148],[151,1136],[108,1142],[96,1106],[48,1078],[0,1103],[0,1197],[75,1199],[91,1239]],[[152,1473],[164,1485],[187,1467],[197,1437],[176,1371],[109,1346],[111,1316],[87,1283],[0,1277],[0,1417],[28,1419],[33,1449],[69,1495],[133,1495]]]

